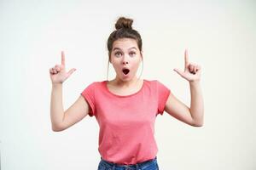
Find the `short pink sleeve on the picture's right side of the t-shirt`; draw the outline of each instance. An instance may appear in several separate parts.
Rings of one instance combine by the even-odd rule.
[[[159,81],[156,81],[156,87],[158,97],[158,113],[163,115],[166,106],[166,101],[169,95],[171,94],[171,90],[169,88],[166,88],[166,86]]]

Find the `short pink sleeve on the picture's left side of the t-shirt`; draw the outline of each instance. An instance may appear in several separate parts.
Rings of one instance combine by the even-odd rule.
[[[96,113],[95,89],[96,89],[96,82],[92,82],[81,93],[81,95],[84,97],[84,99],[87,101],[88,105],[90,106],[89,116],[94,116]]]

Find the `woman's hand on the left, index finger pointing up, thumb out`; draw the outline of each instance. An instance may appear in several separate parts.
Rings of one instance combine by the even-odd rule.
[[[65,69],[65,55],[64,52],[61,51],[61,65],[55,65],[49,69],[49,77],[51,79],[52,84],[62,84],[70,75],[76,71],[76,69],[71,69],[70,71],[66,71]]]

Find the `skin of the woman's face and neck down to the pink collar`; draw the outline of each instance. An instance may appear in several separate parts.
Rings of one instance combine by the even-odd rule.
[[[114,41],[110,63],[113,65],[116,77],[108,82],[109,90],[119,95],[138,91],[143,86],[143,80],[139,80],[136,75],[142,59],[143,53],[139,50],[136,40],[121,38]],[[123,68],[128,68],[129,74],[125,75]]]

